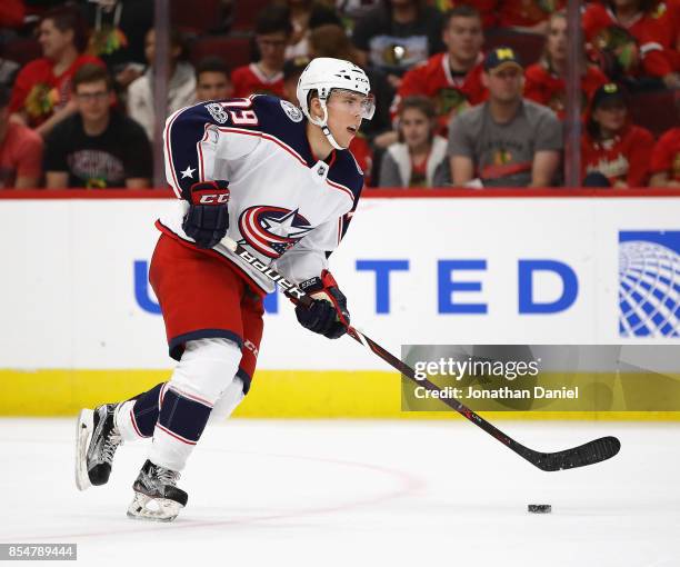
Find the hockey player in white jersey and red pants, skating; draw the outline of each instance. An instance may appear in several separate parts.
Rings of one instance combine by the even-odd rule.
[[[210,420],[222,420],[250,388],[262,334],[262,297],[273,285],[233,255],[231,238],[314,297],[298,321],[334,339],[347,300],[328,271],[363,186],[346,149],[373,116],[357,66],[318,58],[298,82],[300,107],[269,96],[199,103],[166,125],[166,173],[178,201],[161,231],[149,279],[159,299],[169,381],[134,398],[84,409],[76,480],[108,481],[123,441],[152,438],[133,484],[132,518],[169,521],[187,504],[180,471]]]

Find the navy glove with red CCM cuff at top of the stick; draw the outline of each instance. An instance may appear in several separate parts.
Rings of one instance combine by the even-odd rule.
[[[229,182],[200,181],[189,189],[189,212],[182,228],[201,248],[212,248],[229,228]]]

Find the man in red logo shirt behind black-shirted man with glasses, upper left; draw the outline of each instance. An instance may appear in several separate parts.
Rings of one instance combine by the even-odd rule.
[[[44,13],[38,41],[43,57],[19,71],[10,110],[44,137],[76,111],[76,102],[71,99],[73,74],[83,64],[103,67],[103,62],[82,54],[87,44],[84,26],[70,8],[57,8]]]

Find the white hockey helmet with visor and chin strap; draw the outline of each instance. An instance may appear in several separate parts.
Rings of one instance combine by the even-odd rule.
[[[363,94],[366,100],[361,105],[361,118],[366,120],[373,118],[376,102],[372,94],[370,94],[371,83],[368,77],[360,67],[350,61],[331,57],[318,57],[312,59],[304,71],[302,71],[298,80],[297,91],[302,112],[304,112],[310,122],[321,127],[331,146],[340,150],[343,148],[336,142],[328,128],[328,109],[326,108],[326,101],[333,89]],[[314,118],[309,112],[308,101],[311,91],[317,91],[321,108],[323,109],[323,118]]]

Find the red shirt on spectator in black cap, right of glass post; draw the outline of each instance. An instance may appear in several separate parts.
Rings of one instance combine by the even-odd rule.
[[[653,145],[651,132],[639,126],[626,127],[620,136],[602,142],[586,133],[581,138],[581,177],[599,171],[612,186],[626,181],[628,187],[646,187]]]

